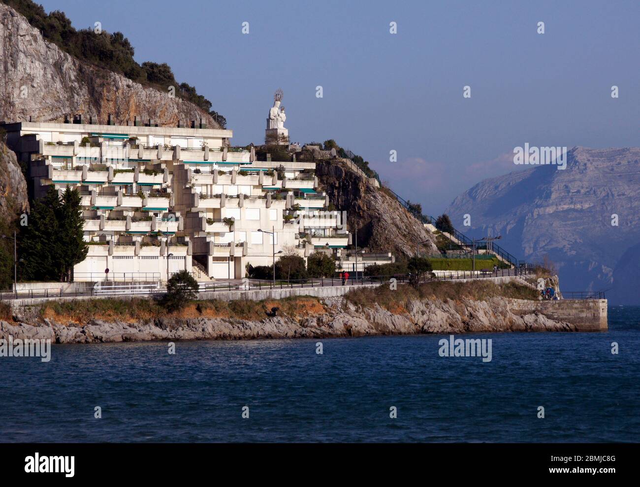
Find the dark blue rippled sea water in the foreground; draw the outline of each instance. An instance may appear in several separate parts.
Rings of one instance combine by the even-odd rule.
[[[474,335],[489,363],[440,357],[436,335],[325,339],[322,355],[319,340],[53,345],[49,363],[0,358],[0,440],[637,442],[639,322],[616,307],[608,333]]]

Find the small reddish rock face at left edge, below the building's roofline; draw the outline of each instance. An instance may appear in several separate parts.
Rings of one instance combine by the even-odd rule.
[[[15,153],[0,142],[0,221],[13,220],[28,210],[27,182]]]

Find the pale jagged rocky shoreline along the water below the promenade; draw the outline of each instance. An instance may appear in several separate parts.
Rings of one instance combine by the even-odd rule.
[[[598,300],[604,301],[604,300]],[[487,301],[471,299],[409,301],[404,310],[392,313],[374,304],[360,308],[342,297],[322,300],[325,312],[309,317],[265,317],[262,320],[238,318],[158,317],[139,322],[90,320],[69,325],[44,319],[37,326],[0,322],[0,338],[44,338],[56,343],[142,342],[150,340],[244,340],[255,338],[333,338],[388,334],[459,334],[508,331],[596,331],[606,329],[600,316],[584,326],[556,319],[536,309],[536,301],[493,297]],[[556,308],[575,302],[557,301]],[[606,303],[606,302],[605,302]],[[590,308],[589,308],[590,306]],[[594,308],[593,302],[586,308]],[[585,309],[586,309],[585,308]],[[606,306],[604,307],[606,310]],[[524,310],[524,311],[523,311]],[[606,313],[606,311],[605,311]],[[548,314],[548,313],[547,313]]]

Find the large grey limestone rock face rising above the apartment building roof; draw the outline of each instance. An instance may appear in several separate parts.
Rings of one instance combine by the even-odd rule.
[[[61,122],[82,113],[106,123],[109,113],[125,124],[143,121],[176,126],[178,120],[218,124],[178,97],[83,63],[42,38],[25,17],[0,3],[0,120]]]

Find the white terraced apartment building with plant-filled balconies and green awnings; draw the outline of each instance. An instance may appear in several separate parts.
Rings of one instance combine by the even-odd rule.
[[[31,194],[50,185],[81,194],[89,251],[76,281],[165,281],[182,269],[200,281],[240,279],[274,253],[339,258],[349,243],[317,192],[315,163],[257,161],[253,150],[228,148],[231,130],[79,118],[0,127],[29,166]]]

